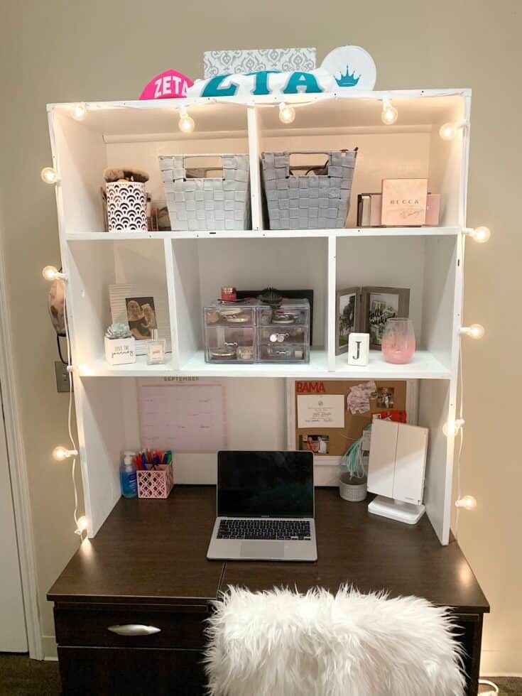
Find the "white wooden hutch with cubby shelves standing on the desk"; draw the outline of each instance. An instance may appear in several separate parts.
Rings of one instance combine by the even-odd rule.
[[[290,379],[406,379],[419,425],[430,429],[425,482],[428,517],[442,544],[450,535],[452,437],[442,425],[455,418],[462,324],[469,128],[452,141],[439,136],[448,121],[469,121],[468,89],[297,95],[293,124],[278,119],[276,97],[173,99],[89,103],[75,121],[75,104],[48,106],[62,266],[75,371],[75,406],[89,535],[94,536],[120,496],[119,453],[138,447],[138,384],[187,376],[227,379],[230,446],[287,446],[286,393]],[[381,121],[392,99],[398,120]],[[185,105],[195,131],[178,129]],[[262,151],[359,147],[347,229],[271,231],[263,219]],[[164,199],[158,155],[248,153],[252,229],[241,232],[104,232],[100,197],[107,166],[148,171],[147,190]],[[357,194],[379,191],[382,178],[428,178],[441,194],[440,227],[356,227]],[[111,323],[108,286],[162,283],[167,288],[173,352],[163,366],[110,366],[103,336]],[[314,290],[310,364],[206,364],[202,306],[222,285]],[[410,288],[410,317],[418,351],[410,364],[387,364],[371,352],[368,367],[335,354],[335,292],[349,286]],[[263,378],[263,379],[258,379]],[[281,379],[283,378],[283,379]],[[318,484],[335,483],[334,465],[317,463]],[[215,457],[176,457],[178,483],[215,481]]]

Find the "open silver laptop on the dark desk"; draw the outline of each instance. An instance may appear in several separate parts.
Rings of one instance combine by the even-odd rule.
[[[217,453],[207,558],[317,560],[312,452]]]

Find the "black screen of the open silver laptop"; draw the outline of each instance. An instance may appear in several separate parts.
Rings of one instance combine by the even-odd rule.
[[[312,518],[312,452],[218,452],[217,516]]]

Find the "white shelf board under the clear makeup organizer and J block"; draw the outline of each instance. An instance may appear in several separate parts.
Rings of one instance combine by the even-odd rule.
[[[147,365],[144,356],[136,363],[109,365],[103,357],[89,364],[88,374],[82,377],[282,377],[302,379],[451,379],[451,371],[428,351],[417,351],[407,365],[391,365],[381,352],[370,352],[370,364],[355,367],[347,364],[347,354],[335,359],[335,371],[328,370],[325,349],[312,349],[309,364],[253,365],[211,364],[205,362],[204,352],[198,351],[181,369],[174,369],[170,361],[165,365]]]

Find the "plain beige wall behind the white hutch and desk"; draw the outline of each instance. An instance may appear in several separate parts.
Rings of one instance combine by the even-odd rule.
[[[201,76],[210,48],[315,45],[322,58],[354,43],[374,56],[378,89],[473,89],[468,222],[489,224],[494,236],[467,247],[464,317],[487,335],[464,345],[462,479],[479,507],[462,514],[460,541],[492,607],[483,670],[522,673],[521,30],[520,0],[1,3],[0,220],[45,636],[45,592],[77,543],[70,466],[48,456],[67,442],[67,396],[55,391],[40,275],[60,263],[53,190],[40,181],[50,163],[45,104],[133,99],[167,67]]]

